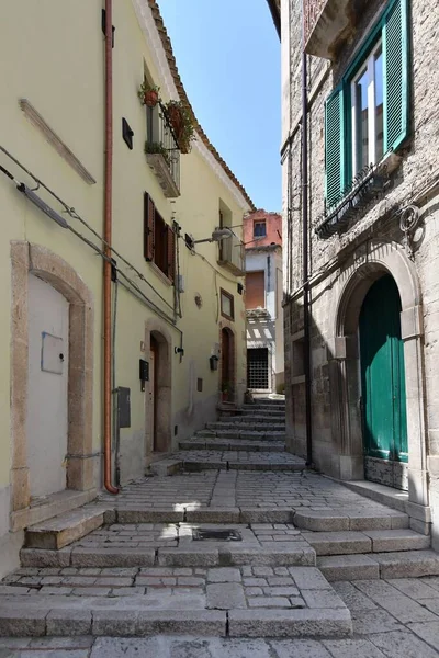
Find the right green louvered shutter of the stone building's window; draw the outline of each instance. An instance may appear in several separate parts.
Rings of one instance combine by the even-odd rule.
[[[384,152],[408,134],[408,0],[396,0],[383,26]]]

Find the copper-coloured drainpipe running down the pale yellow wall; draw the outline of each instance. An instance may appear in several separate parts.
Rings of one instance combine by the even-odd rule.
[[[104,487],[119,494],[111,484],[111,238],[113,192],[113,16],[112,0],[105,0],[105,195],[103,239],[103,465]],[[113,345],[114,348],[114,345]]]

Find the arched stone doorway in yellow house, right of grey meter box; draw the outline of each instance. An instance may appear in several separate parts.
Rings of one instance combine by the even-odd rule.
[[[149,386],[146,395],[146,457],[167,453],[171,435],[171,339],[160,322],[151,319],[146,328]]]

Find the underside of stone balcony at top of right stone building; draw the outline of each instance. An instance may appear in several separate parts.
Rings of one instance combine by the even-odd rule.
[[[305,52],[334,59],[356,30],[367,0],[303,0]]]

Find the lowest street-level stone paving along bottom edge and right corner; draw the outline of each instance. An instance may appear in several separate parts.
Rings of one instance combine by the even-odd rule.
[[[147,571],[147,570],[145,570]],[[166,576],[209,580],[207,574]],[[201,571],[201,570],[199,570]],[[282,575],[250,576],[267,581]],[[271,570],[270,570],[271,574]],[[143,576],[148,578],[147,575]],[[272,581],[273,582],[273,581]],[[172,586],[173,587],[173,586]],[[194,585],[194,587],[198,587]],[[248,586],[258,587],[258,586]],[[439,577],[333,583],[350,609],[349,639],[42,637],[0,639],[0,658],[434,658],[439,656]],[[255,598],[258,594],[255,595]]]

